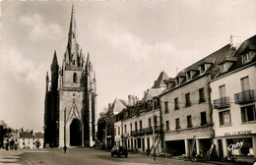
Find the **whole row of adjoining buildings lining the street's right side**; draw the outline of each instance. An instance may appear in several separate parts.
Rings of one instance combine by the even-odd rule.
[[[253,161],[255,89],[256,35],[238,46],[228,43],[174,78],[161,72],[141,100],[115,99],[100,114],[97,136],[106,147]]]

